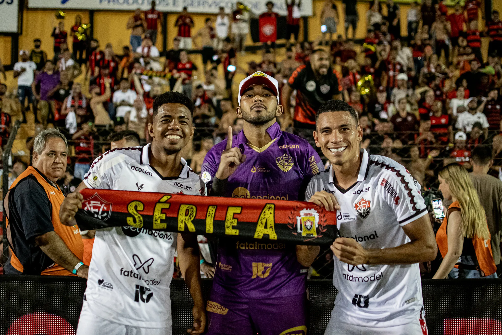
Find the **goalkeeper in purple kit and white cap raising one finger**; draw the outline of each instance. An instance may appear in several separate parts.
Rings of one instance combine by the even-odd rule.
[[[244,120],[243,130],[233,136],[228,127],[228,138],[212,147],[202,164],[202,179],[212,195],[303,199],[310,178],[323,170],[307,141],[281,131],[278,90],[277,80],[260,71],[240,82],[236,112]],[[305,335],[305,281],[318,253],[317,246],[256,250],[221,239],[207,302],[207,333]]]

